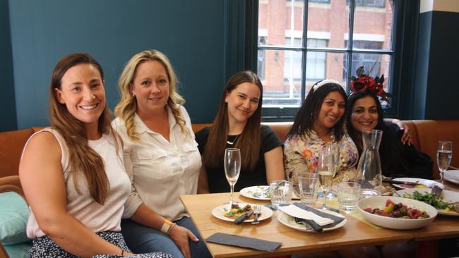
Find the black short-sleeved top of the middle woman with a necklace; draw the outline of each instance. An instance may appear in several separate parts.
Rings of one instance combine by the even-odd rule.
[[[207,144],[209,130],[210,128],[206,127],[196,133],[196,142],[198,142],[198,148],[201,155],[203,155],[205,145]],[[237,141],[236,137],[237,135],[228,135],[227,140],[229,142],[233,142],[234,140]],[[264,154],[279,146],[282,146],[282,141],[279,139],[278,135],[276,135],[268,125],[261,125],[260,155],[258,156],[255,169],[254,171],[241,170],[239,179],[236,185],[234,185],[234,191],[238,192],[242,188],[254,185],[268,185]],[[232,145],[228,144],[227,147],[232,147]],[[225,177],[223,160],[217,168],[209,168],[206,166],[205,170],[207,171],[209,192],[229,192],[229,183]]]

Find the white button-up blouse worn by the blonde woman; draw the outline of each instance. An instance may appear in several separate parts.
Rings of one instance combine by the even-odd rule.
[[[114,130],[124,141],[124,166],[132,183],[125,214],[132,216],[143,202],[171,221],[189,216],[179,196],[196,194],[201,155],[194,140],[190,117],[183,106],[179,109],[189,134],[181,132],[167,106],[170,142],[150,130],[137,114],[134,124],[140,137],[138,141],[129,138],[121,118],[112,122]]]

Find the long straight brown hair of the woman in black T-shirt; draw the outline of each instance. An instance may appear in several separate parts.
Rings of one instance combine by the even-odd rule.
[[[239,136],[234,147],[241,149],[241,167],[244,169],[253,170],[258,161],[260,152],[260,123],[261,123],[261,103],[263,102],[263,85],[258,76],[249,71],[242,71],[236,73],[229,78],[223,90],[222,99],[220,101],[220,108],[218,109],[217,116],[213,121],[213,126],[210,128],[207,144],[203,154],[203,163],[208,167],[217,167],[220,165],[225,148],[227,145],[227,137],[229,131],[228,123],[228,105],[225,102],[227,93],[229,94],[238,85],[244,82],[251,82],[258,86],[260,89],[260,99],[258,107],[254,114],[247,120],[246,126]]]

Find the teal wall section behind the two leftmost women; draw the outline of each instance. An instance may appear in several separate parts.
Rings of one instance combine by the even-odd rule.
[[[77,51],[102,64],[113,109],[126,61],[138,51],[159,49],[179,75],[192,122],[212,121],[227,78],[226,11],[225,1],[216,0],[10,0],[18,128],[49,124],[52,69],[62,56]]]

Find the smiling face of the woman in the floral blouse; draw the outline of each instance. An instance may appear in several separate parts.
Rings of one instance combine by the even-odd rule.
[[[320,132],[333,128],[333,125],[338,123],[345,113],[345,103],[345,99],[340,92],[328,93],[327,97],[323,99],[313,129],[316,132]]]

